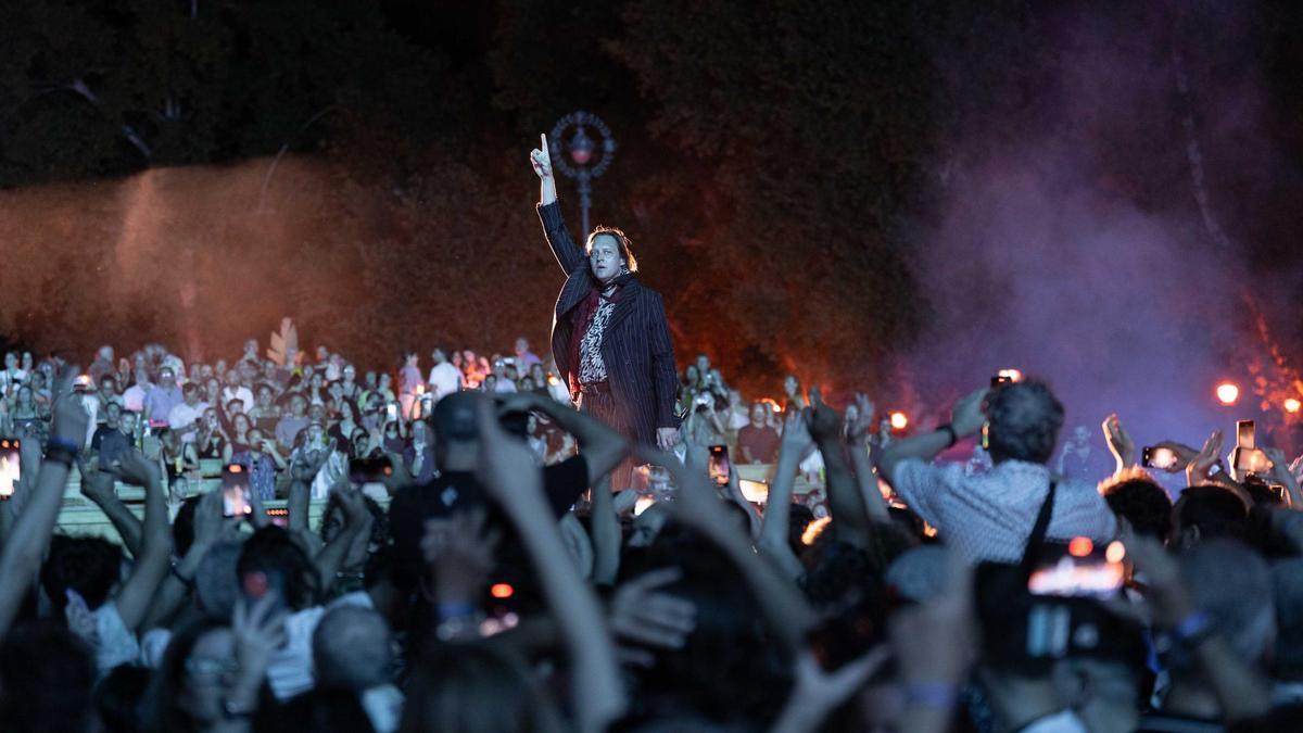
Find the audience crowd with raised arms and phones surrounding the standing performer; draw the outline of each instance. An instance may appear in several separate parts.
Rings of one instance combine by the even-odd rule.
[[[1173,497],[1117,416],[1109,475],[1081,468],[1035,378],[893,433],[795,377],[748,400],[705,355],[661,450],[524,339],[430,357],[7,355],[0,728],[1303,729],[1303,460],[1153,441]],[[116,541],[59,528],[74,473]]]

